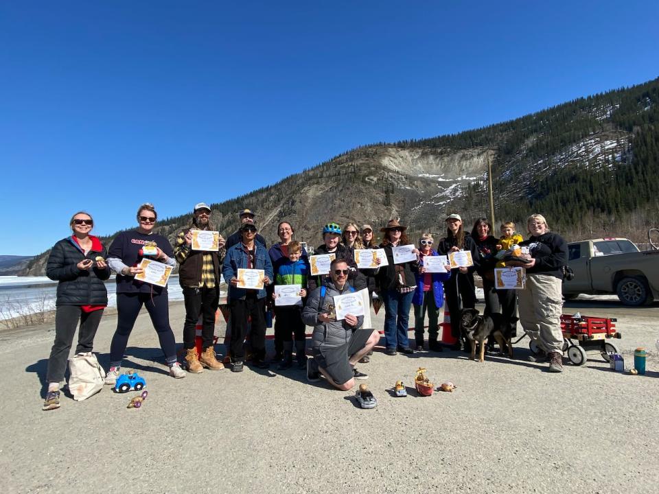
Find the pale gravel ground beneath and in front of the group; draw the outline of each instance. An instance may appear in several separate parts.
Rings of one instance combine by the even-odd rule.
[[[170,309],[180,341],[183,305]],[[297,370],[172,379],[143,313],[124,363],[148,382],[141,409],[126,409],[135,393],[105,388],[42,412],[54,333],[5,331],[0,484],[8,493],[657,492],[659,305],[627,309],[581,298],[565,311],[618,318],[627,365],[636,346],[650,350],[647,375],[614,373],[597,355],[549,374],[527,361],[527,339],[515,360],[488,356],[483,364],[451,351],[376,352],[359,368],[379,405],[361,410],[353,392],[308,384]],[[97,334],[104,366],[115,324],[106,315]],[[435,384],[458,388],[391,397],[395,381],[411,386],[419,366]]]

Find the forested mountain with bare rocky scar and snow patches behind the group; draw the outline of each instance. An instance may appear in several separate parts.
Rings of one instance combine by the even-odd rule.
[[[525,218],[538,212],[568,239],[638,241],[659,212],[659,78],[459,134],[365,145],[211,204],[213,222],[226,237],[248,207],[268,242],[287,220],[312,246],[329,221],[377,228],[400,217],[411,238],[421,231],[441,236],[447,213],[461,213],[468,228],[489,216],[488,161],[498,222],[516,221],[525,233]],[[189,219],[168,218],[157,230],[173,239]],[[24,274],[42,274],[46,257]]]

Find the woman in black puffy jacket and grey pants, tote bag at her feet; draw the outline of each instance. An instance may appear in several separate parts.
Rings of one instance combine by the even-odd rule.
[[[108,255],[100,240],[89,235],[94,221],[80,211],[71,217],[73,235],[51,249],[46,274],[58,281],[55,342],[48,359],[48,391],[43,410],[60,408],[60,381],[64,380],[69,351],[80,322],[76,353],[91,352],[96,329],[108,305],[104,280],[110,277]]]

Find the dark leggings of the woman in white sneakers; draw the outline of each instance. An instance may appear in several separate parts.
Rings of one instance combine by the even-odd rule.
[[[176,362],[176,340],[170,327],[170,307],[167,292],[156,294],[117,294],[117,330],[110,345],[110,366],[122,365],[124,352],[128,345],[130,331],[142,305],[146,305],[153,327],[158,333],[160,347],[165,354],[167,365]]]

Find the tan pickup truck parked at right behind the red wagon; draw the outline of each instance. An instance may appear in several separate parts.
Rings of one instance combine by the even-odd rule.
[[[570,242],[568,266],[575,272],[563,282],[563,296],[617,294],[623,305],[650,305],[659,298],[659,250],[640,252],[625,238]]]

